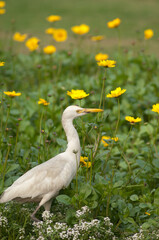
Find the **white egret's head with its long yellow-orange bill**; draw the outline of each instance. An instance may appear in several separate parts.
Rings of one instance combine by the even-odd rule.
[[[97,108],[81,108],[79,106],[69,106],[67,107],[63,112],[63,118],[65,119],[74,119],[80,116],[83,116],[88,113],[94,113],[94,112],[103,112],[102,109]]]

